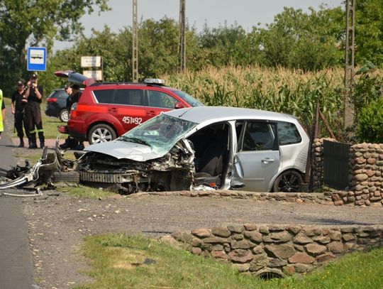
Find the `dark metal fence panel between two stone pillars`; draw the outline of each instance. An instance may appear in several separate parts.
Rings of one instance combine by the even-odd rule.
[[[323,182],[328,187],[343,190],[348,180],[350,143],[323,141]]]

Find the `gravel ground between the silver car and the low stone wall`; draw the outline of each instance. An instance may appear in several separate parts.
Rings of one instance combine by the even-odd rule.
[[[24,201],[35,280],[42,288],[70,288],[91,281],[79,253],[84,236],[126,233],[163,236],[216,227],[255,224],[382,224],[382,208],[256,202],[209,197],[143,196],[91,200],[60,197]]]

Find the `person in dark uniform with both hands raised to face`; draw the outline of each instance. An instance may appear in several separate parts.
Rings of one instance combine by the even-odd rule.
[[[40,140],[40,148],[45,146],[45,138],[43,131],[43,120],[41,119],[40,104],[43,100],[43,87],[38,85],[37,75],[33,74],[30,80],[27,82],[26,99],[28,103],[26,105],[28,129],[30,133],[30,146],[29,148],[37,148],[36,132]]]

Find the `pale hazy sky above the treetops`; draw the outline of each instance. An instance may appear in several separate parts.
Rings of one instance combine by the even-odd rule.
[[[109,0],[111,11],[96,12],[82,17],[85,35],[91,36],[91,28],[102,30],[106,24],[111,31],[118,32],[124,26],[132,25],[132,0]],[[186,0],[186,13],[189,25],[198,31],[207,23],[209,27],[218,27],[227,21],[235,21],[246,31],[251,31],[257,23],[270,23],[274,16],[283,11],[283,7],[294,7],[308,11],[309,7],[318,9],[320,4],[329,8],[342,5],[343,0]],[[138,19],[164,16],[179,18],[179,0],[138,0]],[[71,43],[56,43],[55,50],[69,47]]]

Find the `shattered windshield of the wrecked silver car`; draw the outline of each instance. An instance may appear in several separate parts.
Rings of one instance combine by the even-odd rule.
[[[160,114],[128,131],[118,140],[150,146],[155,153],[162,156],[196,125],[191,121]]]

